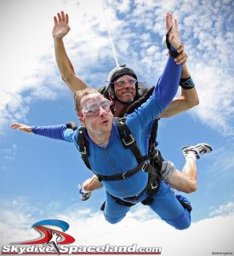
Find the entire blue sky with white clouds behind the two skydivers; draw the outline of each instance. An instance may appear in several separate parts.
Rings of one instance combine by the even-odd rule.
[[[106,224],[99,212],[104,200],[102,189],[90,201],[79,200],[77,184],[90,177],[91,172],[73,145],[9,129],[14,121],[57,125],[77,120],[71,92],[61,81],[54,59],[53,16],[61,9],[70,15],[71,32],[64,41],[77,74],[90,86],[104,84],[116,64],[101,3],[0,3],[1,245],[24,240],[32,234],[31,224],[37,221],[64,218],[80,244],[124,241],[130,245],[136,241],[142,246],[163,247],[163,255],[171,255],[172,247],[174,255],[188,255],[186,250],[191,248],[199,255],[215,250],[233,253],[233,1],[107,0],[107,5],[103,1],[118,61],[133,67],[140,81],[149,86],[157,82],[167,58],[162,45],[165,15],[172,12],[178,20],[200,104],[160,121],[159,148],[164,158],[172,160],[180,170],[184,164],[183,146],[209,143],[214,148],[197,161],[198,189],[187,195],[193,206],[189,230],[172,230],[143,206],[133,209],[122,224]],[[88,230],[94,227],[90,235]],[[128,229],[131,239],[119,238],[123,228]],[[9,229],[14,230],[14,236]],[[157,238],[139,238],[137,229]],[[214,232],[217,229],[219,234]],[[198,242],[206,239],[206,245],[196,247],[191,243],[197,234]],[[168,237],[171,246],[166,242]],[[181,240],[187,242],[187,247],[179,246]]]

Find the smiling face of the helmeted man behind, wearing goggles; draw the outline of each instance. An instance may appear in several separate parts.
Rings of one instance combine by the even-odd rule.
[[[134,97],[136,95],[134,81],[136,81],[134,77],[128,74],[123,75],[115,81],[114,91],[119,101],[126,103],[134,102]]]

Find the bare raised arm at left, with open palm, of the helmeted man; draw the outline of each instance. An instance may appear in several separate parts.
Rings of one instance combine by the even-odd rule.
[[[54,38],[55,58],[60,69],[62,79],[67,84],[68,88],[74,93],[76,90],[85,89],[87,85],[82,79],[77,77],[71,61],[66,55],[63,38],[70,31],[68,22],[68,15],[65,15],[63,11],[58,13],[57,16],[54,16],[54,28],[52,34]]]

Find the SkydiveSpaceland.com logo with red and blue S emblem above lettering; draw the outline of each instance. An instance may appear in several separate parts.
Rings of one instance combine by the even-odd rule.
[[[54,230],[48,226],[59,227]],[[69,224],[58,219],[47,219],[37,222],[31,226],[40,233],[40,237],[31,241],[19,241],[4,245],[1,254],[161,254],[161,247],[137,247],[132,246],[68,246],[75,241],[75,238],[64,233]],[[17,245],[17,246],[16,246]]]

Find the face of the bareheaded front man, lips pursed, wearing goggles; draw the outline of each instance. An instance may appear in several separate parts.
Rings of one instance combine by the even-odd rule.
[[[92,138],[110,136],[114,120],[110,101],[100,93],[91,93],[82,97],[80,106],[79,119],[88,134]]]

